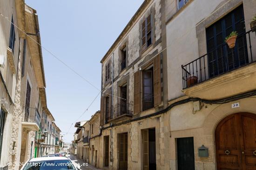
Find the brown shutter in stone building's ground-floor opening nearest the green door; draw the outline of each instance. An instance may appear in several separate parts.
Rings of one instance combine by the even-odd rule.
[[[142,130],[143,132],[143,170],[149,169],[148,160],[148,129]]]

